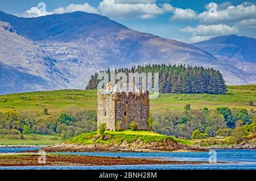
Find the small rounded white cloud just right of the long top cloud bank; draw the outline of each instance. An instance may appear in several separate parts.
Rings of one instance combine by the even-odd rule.
[[[197,13],[194,10],[191,9],[180,9],[175,8],[174,15],[171,17],[170,20],[177,20],[177,21],[183,21],[183,20],[192,20],[196,19]]]

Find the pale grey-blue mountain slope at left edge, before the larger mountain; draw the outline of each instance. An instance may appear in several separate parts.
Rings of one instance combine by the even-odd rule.
[[[63,89],[68,82],[38,45],[0,22],[0,94]]]

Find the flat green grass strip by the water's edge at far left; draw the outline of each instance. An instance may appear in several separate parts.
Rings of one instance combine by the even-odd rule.
[[[57,135],[23,134],[23,136],[24,140],[19,138],[20,135],[1,135],[0,145],[54,145],[61,142],[61,137]]]

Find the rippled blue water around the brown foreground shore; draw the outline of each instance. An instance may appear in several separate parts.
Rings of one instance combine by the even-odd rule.
[[[0,153],[15,153],[18,151],[35,150],[40,148],[0,148]],[[216,150],[218,162],[229,162],[225,164],[198,164],[198,165],[120,165],[120,166],[31,166],[31,167],[0,167],[1,169],[42,169],[42,170],[63,170],[63,169],[246,169],[256,170],[256,150]],[[182,153],[63,153],[78,155],[93,155],[106,157],[135,157],[155,158],[170,161],[208,161],[208,152],[182,152]]]

